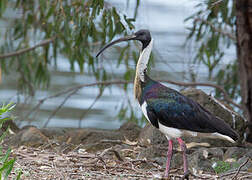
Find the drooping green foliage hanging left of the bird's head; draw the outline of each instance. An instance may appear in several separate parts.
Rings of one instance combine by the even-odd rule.
[[[8,19],[4,12],[15,14],[7,21],[9,28],[3,32],[0,54],[50,41],[1,61],[3,72],[17,73],[14,74],[18,76],[19,89],[30,95],[34,95],[37,88],[49,87],[50,72],[57,68],[62,57],[69,62],[72,71],[87,72],[97,80],[106,80],[109,78],[106,69],[98,65],[92,52],[116,35],[134,28],[134,18],[121,15],[104,0],[1,1],[0,8],[0,20]],[[118,65],[125,58],[124,54],[128,54],[125,48]]]

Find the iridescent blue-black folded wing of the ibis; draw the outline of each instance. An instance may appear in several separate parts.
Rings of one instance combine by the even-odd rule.
[[[154,126],[158,121],[168,127],[203,133],[218,132],[234,140],[237,133],[223,120],[215,117],[201,105],[170,88],[162,87],[162,92],[155,98],[146,98],[148,116]],[[172,97],[172,98],[171,98]],[[157,127],[157,126],[156,126]]]

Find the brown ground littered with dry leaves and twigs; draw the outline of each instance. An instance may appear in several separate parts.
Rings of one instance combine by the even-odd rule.
[[[143,150],[137,144],[117,144],[96,153],[86,152],[80,146],[69,152],[61,147],[59,151],[57,146],[59,145],[49,144],[38,148],[14,148],[12,156],[16,158],[16,163],[10,179],[15,179],[20,169],[21,179],[24,180],[162,179],[164,175],[164,166],[155,161],[137,158]],[[252,173],[239,169],[222,175],[194,173],[189,179],[252,179]],[[170,179],[181,179],[182,176],[182,168],[170,171]]]

